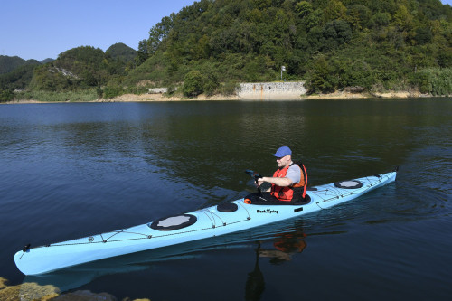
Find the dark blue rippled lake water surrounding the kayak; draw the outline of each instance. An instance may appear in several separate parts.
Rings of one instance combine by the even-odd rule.
[[[10,285],[118,300],[452,295],[450,98],[3,105],[0,137],[0,277]],[[396,165],[400,173],[353,202],[224,238],[223,247],[207,240],[189,253],[146,251],[44,277],[15,268],[27,243],[240,199],[255,190],[244,171],[272,174],[271,154],[285,145],[310,185]]]

